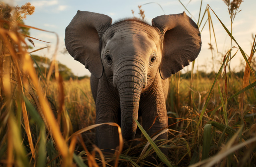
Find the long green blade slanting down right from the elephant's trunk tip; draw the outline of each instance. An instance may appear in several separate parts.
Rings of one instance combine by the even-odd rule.
[[[139,124],[139,122],[134,119],[135,122],[137,123],[139,129],[141,130],[141,132],[143,133],[143,135],[146,137],[146,139],[148,140],[148,142],[151,144],[151,146],[153,147],[153,149],[155,150],[156,154],[158,155],[158,157],[161,159],[162,162],[164,162],[164,164],[166,164],[167,166],[172,166],[170,164],[170,162],[168,161],[168,159],[166,158],[166,156],[164,155],[164,153],[161,152],[161,150],[157,147],[157,145],[154,143],[154,141],[151,140],[151,138],[149,137],[149,135],[147,134],[147,132],[142,128],[142,126]]]

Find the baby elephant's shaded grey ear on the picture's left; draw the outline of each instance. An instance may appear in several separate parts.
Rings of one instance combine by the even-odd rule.
[[[77,11],[66,28],[65,45],[68,53],[97,78],[103,74],[100,38],[111,23],[112,19],[107,15]]]

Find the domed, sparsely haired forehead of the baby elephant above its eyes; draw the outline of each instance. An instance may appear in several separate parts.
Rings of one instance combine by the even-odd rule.
[[[115,54],[136,52],[150,55],[161,46],[158,32],[151,26],[136,21],[125,21],[111,26],[102,40],[105,50]]]

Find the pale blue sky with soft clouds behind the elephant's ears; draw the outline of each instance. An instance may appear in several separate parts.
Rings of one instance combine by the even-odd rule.
[[[199,9],[201,0],[192,0],[189,4],[190,0],[181,0],[181,2],[187,7],[189,12],[196,18],[192,19],[194,21],[198,20]],[[242,11],[237,14],[235,21],[233,23],[233,36],[245,53],[249,54],[252,43],[252,34],[256,33],[256,12],[255,0],[244,0],[239,9]],[[155,1],[147,1],[147,0],[130,0],[130,1],[121,1],[121,0],[4,0],[4,2],[9,3],[10,5],[24,5],[26,2],[30,2],[34,5],[35,13],[31,16],[27,16],[27,20],[25,24],[29,26],[34,26],[40,29],[45,29],[48,31],[56,32],[59,36],[59,45],[58,45],[58,54],[57,60],[61,63],[67,65],[67,67],[71,68],[74,74],[83,76],[85,74],[90,75],[89,71],[84,68],[82,64],[76,62],[70,55],[61,54],[61,50],[65,47],[64,45],[64,35],[65,28],[72,20],[73,16],[76,14],[77,10],[81,11],[91,11],[102,13],[110,16],[113,21],[118,20],[123,17],[132,17],[131,10],[135,11],[135,15],[139,17],[137,14],[139,12],[138,5],[142,5],[142,9],[145,11],[145,19],[151,23],[152,18],[157,17],[163,14],[177,14],[185,11],[184,7],[180,4],[178,0],[155,0]],[[161,8],[156,4],[148,4],[143,5],[149,2],[156,2],[162,6],[164,12]],[[203,0],[202,10],[204,11],[207,4],[214,10],[214,12],[218,15],[218,17],[222,20],[222,22],[227,26],[230,30],[230,18],[227,11],[227,6],[224,4],[222,0]],[[191,16],[187,11],[185,11],[189,16]],[[230,47],[230,38],[227,33],[220,25],[220,22],[211,12],[211,17],[214,25],[214,30],[217,38],[218,50],[221,53],[226,53]],[[204,20],[206,21],[206,20]],[[201,29],[200,29],[201,30]],[[213,32],[211,32],[213,34]],[[38,30],[30,30],[30,36],[34,38],[38,38],[40,40],[51,42],[51,48],[36,52],[39,56],[47,56],[49,58],[53,55],[53,50],[56,47],[56,35],[48,32],[42,32]],[[199,70],[203,71],[211,71],[212,69],[212,55],[211,50],[209,50],[210,37],[209,37],[209,26],[208,23],[204,27],[201,32],[202,38],[202,49],[199,54],[196,65],[198,64]],[[214,42],[214,38],[212,37],[212,43]],[[41,41],[33,40],[35,43],[35,47],[32,50],[45,47],[46,43]],[[233,42],[232,46],[236,46]],[[220,65],[218,64],[221,60],[223,60],[223,56],[221,54],[217,55],[216,46],[213,43],[214,47],[214,64],[215,71],[219,70]],[[32,51],[31,50],[31,51]],[[236,50],[236,49],[235,49]],[[235,51],[233,52],[235,53]],[[240,62],[245,64],[242,55],[240,52],[232,59],[231,61],[231,69],[232,70],[240,70],[242,66]],[[217,65],[218,64],[218,65]],[[191,67],[188,66],[183,71],[190,70]],[[209,70],[210,69],[210,70]]]

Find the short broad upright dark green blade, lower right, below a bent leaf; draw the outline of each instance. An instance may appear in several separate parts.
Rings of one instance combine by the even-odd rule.
[[[209,157],[210,144],[211,144],[211,124],[206,124],[204,126],[202,160]]]

